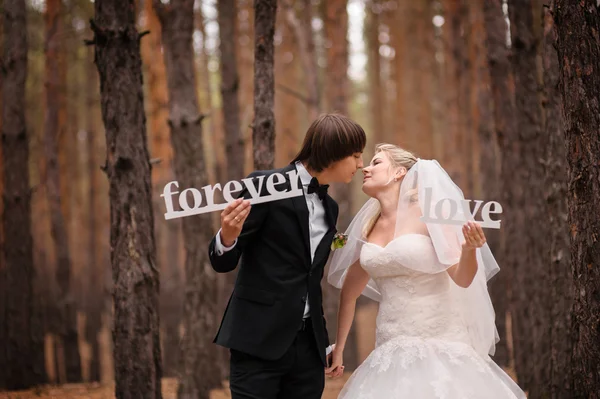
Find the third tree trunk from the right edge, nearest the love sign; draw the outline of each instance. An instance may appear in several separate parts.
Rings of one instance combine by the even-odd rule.
[[[539,6],[539,7],[538,7]],[[519,382],[537,397],[547,381],[550,354],[546,290],[549,275],[544,165],[547,137],[542,134],[538,54],[541,3],[512,0],[508,4],[513,46],[516,120],[518,133],[506,137],[512,159],[505,158],[503,173],[511,176],[504,187],[511,196],[506,224],[516,230],[506,236],[506,249],[517,254],[513,271],[512,312],[515,366]],[[507,232],[508,233],[508,232]],[[536,288],[539,287],[539,288]]]

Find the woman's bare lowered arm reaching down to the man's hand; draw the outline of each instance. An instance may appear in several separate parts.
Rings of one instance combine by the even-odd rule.
[[[348,269],[348,274],[342,286],[340,294],[340,307],[338,310],[338,330],[336,336],[335,349],[333,350],[330,367],[326,370],[332,377],[341,375],[343,368],[342,354],[346,347],[346,340],[354,320],[356,310],[356,300],[363,292],[369,282],[369,274],[360,266],[357,260]]]

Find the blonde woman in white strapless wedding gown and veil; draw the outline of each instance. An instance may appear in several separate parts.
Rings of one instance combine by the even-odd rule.
[[[377,338],[339,398],[525,398],[490,358],[498,334],[487,280],[499,268],[483,230],[474,221],[421,220],[439,213],[467,220],[462,191],[436,161],[390,144],[377,146],[363,172],[371,199],[334,252],[328,276],[342,291],[327,374],[343,373],[361,293],[379,302]]]

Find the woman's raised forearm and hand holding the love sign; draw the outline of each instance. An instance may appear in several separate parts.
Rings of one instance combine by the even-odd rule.
[[[463,226],[465,243],[462,245],[460,260],[448,268],[448,274],[459,287],[467,288],[477,274],[477,248],[485,244],[485,234],[479,224],[468,222]]]

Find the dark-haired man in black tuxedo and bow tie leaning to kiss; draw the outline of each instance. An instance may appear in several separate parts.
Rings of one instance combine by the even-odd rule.
[[[281,187],[304,195],[250,206],[243,192],[221,213],[209,245],[219,273],[236,268],[234,291],[215,338],[230,349],[232,399],[317,399],[325,386],[329,346],[321,279],[336,233],[338,205],[330,183],[349,183],[363,166],[363,129],[326,114],[309,127],[302,149],[281,173]],[[286,173],[298,173],[289,181]]]

